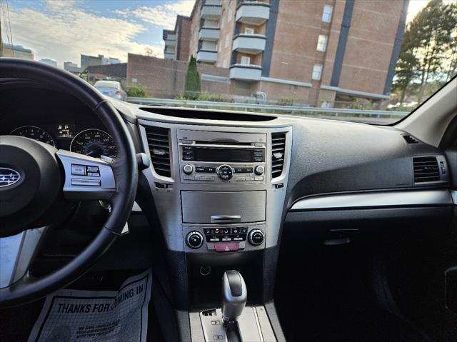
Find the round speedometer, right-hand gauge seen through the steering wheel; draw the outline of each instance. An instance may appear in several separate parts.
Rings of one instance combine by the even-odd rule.
[[[100,129],[86,129],[76,134],[71,141],[70,151],[94,158],[101,156],[116,157],[116,146],[113,138]]]

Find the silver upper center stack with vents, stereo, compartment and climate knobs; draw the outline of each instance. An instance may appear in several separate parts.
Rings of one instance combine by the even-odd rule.
[[[145,173],[171,250],[228,253],[276,246],[290,127],[150,124],[141,126],[152,161]]]

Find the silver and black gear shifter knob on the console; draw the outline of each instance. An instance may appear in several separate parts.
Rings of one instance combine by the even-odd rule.
[[[222,276],[222,318],[234,322],[241,316],[248,298],[246,283],[238,271],[229,270]]]

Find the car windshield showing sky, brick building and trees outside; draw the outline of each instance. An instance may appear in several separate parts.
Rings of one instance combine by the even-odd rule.
[[[457,72],[456,0],[0,0],[0,29],[136,104],[391,124]]]

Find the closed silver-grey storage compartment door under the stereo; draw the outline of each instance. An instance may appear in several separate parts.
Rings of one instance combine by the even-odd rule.
[[[183,223],[248,223],[266,218],[266,191],[181,191]]]

